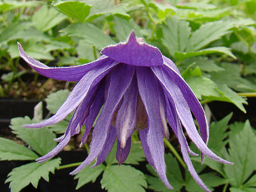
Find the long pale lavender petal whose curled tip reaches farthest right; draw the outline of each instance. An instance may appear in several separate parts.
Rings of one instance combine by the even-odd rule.
[[[221,163],[232,164],[225,159],[218,157],[214,154],[204,143],[202,137],[198,134],[192,114],[189,110],[188,104],[184,99],[179,87],[173,81],[173,79],[168,75],[168,73],[161,67],[152,67],[158,80],[162,83],[163,88],[170,94],[170,97],[174,101],[174,111],[180,118],[181,123],[185,127],[189,138],[196,144],[197,148],[212,159],[219,161]]]

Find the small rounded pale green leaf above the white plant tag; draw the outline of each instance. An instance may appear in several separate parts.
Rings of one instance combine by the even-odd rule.
[[[68,89],[61,89],[54,93],[51,93],[45,99],[46,109],[48,109],[52,114],[55,114],[60,106],[66,101],[70,94]]]

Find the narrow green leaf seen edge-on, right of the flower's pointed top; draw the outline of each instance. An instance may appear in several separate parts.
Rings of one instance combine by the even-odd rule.
[[[191,52],[175,52],[174,56],[178,61],[181,61],[186,58],[195,57],[199,55],[206,55],[206,54],[212,54],[212,53],[224,53],[232,58],[236,58],[236,56],[230,51],[230,48],[227,47],[211,47],[202,49],[199,51],[191,51]]]

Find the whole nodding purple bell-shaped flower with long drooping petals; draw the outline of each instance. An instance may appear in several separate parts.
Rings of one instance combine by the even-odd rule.
[[[134,31],[126,42],[109,45],[101,50],[97,60],[79,66],[48,67],[26,55],[19,45],[20,57],[38,73],[57,80],[78,81],[67,100],[51,118],[43,122],[24,125],[39,128],[58,123],[75,110],[66,133],[58,138],[59,144],[48,154],[37,159],[44,162],[59,153],[70,137],[80,133],[85,125],[81,145],[87,141],[102,105],[102,111],[92,132],[90,153],[84,162],[71,174],[90,164],[97,158],[99,165],[110,152],[117,138],[116,159],[125,161],[131,147],[131,136],[139,130],[145,156],[168,188],[164,162],[164,137],[169,138],[166,119],[176,134],[183,159],[196,182],[210,191],[197,175],[188,153],[197,155],[188,147],[181,125],[188,137],[204,155],[230,164],[215,155],[208,147],[209,126],[203,107],[195,94],[181,77],[173,62],[163,56],[159,49],[136,38]],[[199,127],[197,132],[191,111]]]

